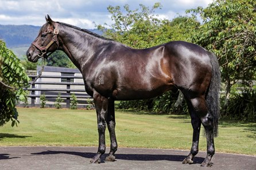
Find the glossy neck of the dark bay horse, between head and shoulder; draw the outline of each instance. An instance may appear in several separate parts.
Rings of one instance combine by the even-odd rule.
[[[60,31],[63,31],[62,34],[64,35],[61,37],[63,41],[62,50],[79,70],[84,69],[86,62],[94,56],[96,50],[104,43],[103,39],[84,33],[81,30],[69,28]]]

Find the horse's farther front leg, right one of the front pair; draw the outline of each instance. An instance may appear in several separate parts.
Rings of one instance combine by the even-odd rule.
[[[115,151],[117,151],[117,138],[115,137],[115,106],[114,100],[108,102],[107,109],[107,128],[110,135],[110,152],[106,157],[106,161],[115,161]]]

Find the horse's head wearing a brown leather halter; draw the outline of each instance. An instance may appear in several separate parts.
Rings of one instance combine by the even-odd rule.
[[[37,38],[26,52],[31,62],[37,62],[38,58],[47,58],[47,53],[55,52],[59,48],[58,23],[52,21],[49,15],[45,19],[46,23],[41,27]]]

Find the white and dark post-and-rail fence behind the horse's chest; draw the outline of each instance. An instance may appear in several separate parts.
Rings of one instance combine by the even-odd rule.
[[[29,77],[37,77],[41,67],[37,67],[37,71],[29,72]],[[46,98],[46,107],[55,107],[55,101],[58,95],[63,98],[61,103],[63,108],[69,108],[71,94],[75,94],[78,104],[77,108],[86,108],[91,105],[92,98],[86,93],[84,89],[84,81],[82,74],[78,69],[59,68],[52,66],[45,66],[42,76],[30,86],[28,90],[28,105],[40,107],[40,96],[44,94]],[[18,104],[24,106],[24,103]]]

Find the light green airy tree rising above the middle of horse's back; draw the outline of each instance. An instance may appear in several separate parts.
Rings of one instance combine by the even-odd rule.
[[[108,6],[108,11],[111,14],[111,19],[115,21],[111,25],[98,25],[98,29],[103,31],[103,35],[122,42],[132,48],[148,48],[153,45],[161,44],[160,41],[168,41],[172,36],[168,31],[165,31],[165,36],[162,35],[161,29],[165,29],[164,24],[167,21],[157,19],[154,15],[154,10],[161,8],[160,3],[155,3],[152,9],[144,5],[139,5],[140,9],[130,10],[129,5],[123,6],[126,14],[121,12],[120,6]],[[165,39],[159,37],[165,37]]]

